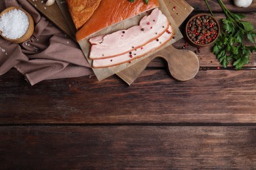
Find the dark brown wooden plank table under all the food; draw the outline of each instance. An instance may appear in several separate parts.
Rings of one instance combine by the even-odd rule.
[[[256,27],[255,1],[224,3]],[[198,58],[192,80],[173,80],[155,59],[131,87],[117,76],[30,86],[11,69],[0,76],[1,169],[255,169],[256,53],[241,71],[223,69],[210,47]]]

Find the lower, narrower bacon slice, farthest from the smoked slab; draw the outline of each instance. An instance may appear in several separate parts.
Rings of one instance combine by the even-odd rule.
[[[93,68],[106,68],[106,67],[116,66],[121,63],[129,63],[133,59],[138,59],[142,56],[145,56],[149,52],[157,50],[158,48],[160,48],[161,46],[169,42],[173,38],[173,35],[174,35],[174,31],[171,25],[169,25],[169,28],[167,29],[167,31],[165,31],[163,35],[158,37],[158,39],[151,41],[140,48],[137,48],[131,52],[122,54],[121,56],[93,60]]]

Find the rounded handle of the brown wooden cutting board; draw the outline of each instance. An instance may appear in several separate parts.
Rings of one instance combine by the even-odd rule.
[[[178,50],[172,45],[167,46],[165,50],[156,52],[152,56],[152,59],[157,57],[165,59],[168,63],[171,76],[181,81],[194,78],[200,67],[198,56],[194,52],[190,50]]]

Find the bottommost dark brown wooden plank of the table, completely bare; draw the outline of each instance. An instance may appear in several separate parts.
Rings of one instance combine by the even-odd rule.
[[[0,127],[2,169],[255,169],[256,126]]]

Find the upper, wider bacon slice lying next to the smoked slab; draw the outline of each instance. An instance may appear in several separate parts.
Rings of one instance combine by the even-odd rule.
[[[168,26],[166,16],[161,10],[154,9],[140,20],[139,25],[90,39],[92,46],[89,59],[112,58],[130,52],[160,37]]]

